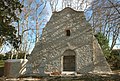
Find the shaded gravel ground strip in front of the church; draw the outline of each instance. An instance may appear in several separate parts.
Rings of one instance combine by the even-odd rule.
[[[49,77],[24,77],[24,78],[5,78],[1,77],[0,81],[120,81],[120,74],[83,74],[81,76],[64,75]]]

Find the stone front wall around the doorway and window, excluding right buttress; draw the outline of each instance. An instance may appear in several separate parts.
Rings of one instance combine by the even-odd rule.
[[[66,30],[70,30],[70,36],[66,36]],[[37,69],[44,59],[46,72],[62,72],[63,54],[68,49],[76,53],[76,72],[88,73],[94,70],[92,28],[84,12],[71,8],[53,13],[29,63]]]

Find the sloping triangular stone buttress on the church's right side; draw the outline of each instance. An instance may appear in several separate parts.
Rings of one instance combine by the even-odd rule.
[[[101,72],[101,73],[111,72],[110,66],[104,57],[104,54],[97,39],[95,37],[93,39],[94,39],[93,41],[94,72]]]

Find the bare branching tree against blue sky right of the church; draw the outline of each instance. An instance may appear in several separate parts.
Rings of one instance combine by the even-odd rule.
[[[110,50],[120,36],[120,1],[94,0],[92,2],[92,26],[96,32],[102,32],[110,40]]]

